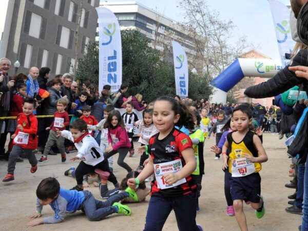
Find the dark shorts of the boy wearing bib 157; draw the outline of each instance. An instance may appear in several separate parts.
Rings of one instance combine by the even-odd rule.
[[[259,172],[245,177],[230,177],[230,192],[233,200],[259,203],[261,194],[261,177]]]

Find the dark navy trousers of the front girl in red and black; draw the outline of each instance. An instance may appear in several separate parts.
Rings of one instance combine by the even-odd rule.
[[[144,230],[162,230],[172,208],[180,231],[199,230],[196,224],[196,203],[196,192],[179,197],[151,197]]]

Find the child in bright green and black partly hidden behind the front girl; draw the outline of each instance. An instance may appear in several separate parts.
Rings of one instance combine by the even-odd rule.
[[[194,114],[195,128],[189,131],[189,138],[192,142],[192,148],[194,148],[195,158],[197,161],[197,167],[194,172],[192,172],[191,177],[197,184],[197,211],[199,209],[199,197],[200,191],[202,189],[202,175],[204,175],[204,159],[203,159],[203,143],[204,136],[203,131],[199,128],[201,117],[198,112]]]

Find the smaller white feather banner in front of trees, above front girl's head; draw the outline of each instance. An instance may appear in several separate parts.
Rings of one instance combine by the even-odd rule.
[[[187,56],[183,47],[175,41],[172,41],[174,53],[176,92],[181,98],[188,96],[188,63]]]

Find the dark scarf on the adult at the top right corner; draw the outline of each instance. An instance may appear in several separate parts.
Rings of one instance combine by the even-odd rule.
[[[297,17],[297,34],[304,45],[308,45],[308,2],[306,2]]]

